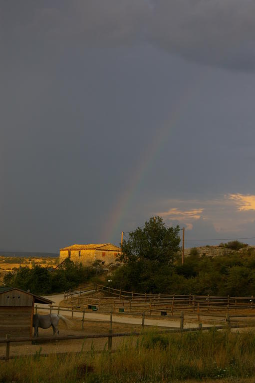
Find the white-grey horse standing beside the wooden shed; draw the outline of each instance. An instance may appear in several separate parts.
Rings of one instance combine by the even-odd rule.
[[[47,314],[47,315],[40,315],[40,314],[34,314],[33,315],[33,327],[34,327],[34,336],[38,337],[38,327],[41,329],[48,329],[50,326],[53,329],[53,335],[57,333],[59,334],[59,330],[57,328],[59,319],[61,319],[67,327],[70,327],[72,325],[72,322],[63,317],[63,315],[60,314]]]

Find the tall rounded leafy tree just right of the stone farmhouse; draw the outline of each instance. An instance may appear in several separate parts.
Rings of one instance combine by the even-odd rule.
[[[157,216],[131,232],[123,241],[119,260],[123,266],[112,276],[112,286],[140,292],[159,292],[169,286],[169,276],[180,250],[179,226],[166,227]]]

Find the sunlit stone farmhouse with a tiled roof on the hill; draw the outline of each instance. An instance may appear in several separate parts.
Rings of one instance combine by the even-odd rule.
[[[73,262],[81,262],[84,266],[89,266],[96,260],[100,260],[107,266],[116,261],[120,251],[120,247],[111,243],[71,245],[60,249],[59,262],[69,258]]]

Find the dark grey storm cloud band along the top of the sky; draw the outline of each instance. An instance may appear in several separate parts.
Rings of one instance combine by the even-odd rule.
[[[20,8],[11,34],[56,47],[71,42],[103,47],[141,39],[202,64],[255,69],[253,0],[76,0],[4,2],[2,22]],[[28,2],[26,3],[28,4]],[[26,11],[25,11],[26,10]]]

